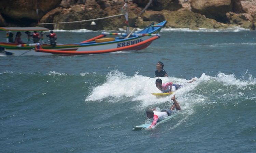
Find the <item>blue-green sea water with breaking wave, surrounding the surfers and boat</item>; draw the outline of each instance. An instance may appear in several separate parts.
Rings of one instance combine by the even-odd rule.
[[[77,43],[99,31],[55,31]],[[1,41],[5,32],[0,32]],[[134,52],[0,57],[0,152],[256,152],[256,32],[162,29]],[[25,36],[23,34],[22,36]],[[23,37],[25,39],[25,37]],[[156,63],[186,84],[182,110],[153,129],[145,111],[156,98]]]

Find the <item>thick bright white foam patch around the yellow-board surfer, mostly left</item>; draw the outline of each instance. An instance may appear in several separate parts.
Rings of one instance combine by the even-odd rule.
[[[175,77],[161,78],[163,83],[173,82],[182,83],[190,80],[179,79]],[[155,86],[156,78],[149,78],[142,75],[135,74],[134,76],[127,77],[119,71],[114,71],[108,74],[107,80],[103,85],[95,87],[91,94],[87,97],[86,101],[97,101],[109,96],[112,97],[133,97],[133,101],[142,101],[142,105],[150,105],[152,103],[163,103],[170,101],[170,97],[157,99],[151,93],[160,93],[160,90]],[[179,89],[177,94],[183,94],[192,90],[192,84],[188,84],[187,90]]]

